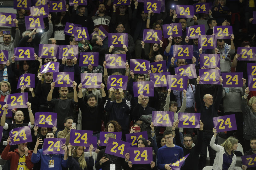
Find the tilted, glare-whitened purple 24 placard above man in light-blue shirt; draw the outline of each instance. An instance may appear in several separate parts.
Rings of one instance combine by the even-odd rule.
[[[197,78],[197,72],[195,70],[195,64],[188,64],[175,68],[175,73],[181,76],[187,76],[188,79]]]

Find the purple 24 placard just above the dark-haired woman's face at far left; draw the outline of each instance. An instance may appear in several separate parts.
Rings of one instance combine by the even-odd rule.
[[[17,47],[14,48],[15,61],[21,60],[35,60],[35,50],[31,47]]]

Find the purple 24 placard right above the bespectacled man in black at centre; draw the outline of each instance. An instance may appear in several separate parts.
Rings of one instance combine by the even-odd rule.
[[[140,94],[144,96],[154,96],[154,83],[153,82],[133,82],[134,97]]]

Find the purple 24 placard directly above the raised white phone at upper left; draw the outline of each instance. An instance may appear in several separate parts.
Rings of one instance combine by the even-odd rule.
[[[43,25],[43,16],[25,16],[26,29],[41,28],[45,29]]]

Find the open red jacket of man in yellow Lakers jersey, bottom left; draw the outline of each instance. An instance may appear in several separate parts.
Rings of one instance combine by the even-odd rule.
[[[11,160],[11,167],[10,169],[17,169],[18,168],[18,162],[19,162],[19,150],[15,149],[14,152],[9,152],[10,150],[10,145],[8,144],[5,149],[2,152],[1,158],[4,160]],[[32,156],[32,152],[29,151],[28,152],[28,156],[25,156],[26,158],[26,165],[27,168],[29,168],[30,170],[32,170],[32,168],[34,167],[34,164],[31,162],[31,156]]]

